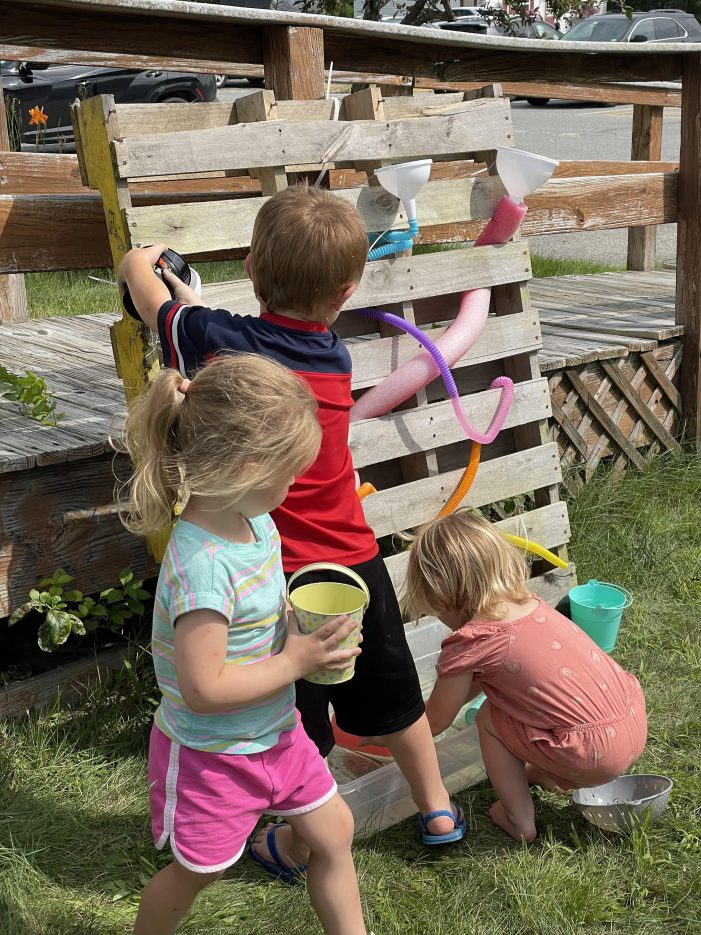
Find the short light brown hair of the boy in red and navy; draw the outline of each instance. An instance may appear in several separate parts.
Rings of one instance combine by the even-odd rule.
[[[353,205],[323,189],[294,185],[258,212],[250,257],[256,297],[269,312],[326,321],[336,296],[360,282],[368,238]]]

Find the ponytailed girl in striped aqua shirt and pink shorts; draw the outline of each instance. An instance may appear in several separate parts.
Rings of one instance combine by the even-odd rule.
[[[263,812],[285,815],[309,851],[324,931],[365,935],[353,819],[298,724],[294,682],[342,668],[345,617],[311,636],[285,625],[280,544],[268,516],[316,458],[316,404],[285,367],[254,354],[192,381],[164,370],[126,423],[135,463],[125,522],[168,543],[153,615],[162,693],[148,778],[156,847],[173,863],[144,889],[135,935],[169,935],[197,894],[235,863]]]

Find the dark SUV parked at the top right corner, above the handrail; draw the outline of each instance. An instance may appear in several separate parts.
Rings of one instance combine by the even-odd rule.
[[[701,26],[683,10],[649,10],[633,13],[599,13],[573,26],[563,42],[701,42]]]

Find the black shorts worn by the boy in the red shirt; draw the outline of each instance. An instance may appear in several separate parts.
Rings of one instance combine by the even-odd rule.
[[[355,675],[340,685],[297,682],[297,708],[307,734],[328,756],[334,746],[329,705],[338,726],[359,737],[394,734],[409,727],[424,713],[419,677],[404,633],[404,623],[385,563],[380,555],[351,565],[370,591],[370,606],[363,617],[362,653]],[[287,576],[289,577],[289,575]],[[297,579],[348,582],[333,571],[310,572]]]

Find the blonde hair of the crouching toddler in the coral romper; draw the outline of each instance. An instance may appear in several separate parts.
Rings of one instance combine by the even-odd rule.
[[[465,621],[500,620],[505,600],[529,598],[523,556],[481,516],[463,510],[418,531],[402,600],[414,619],[457,612]]]

